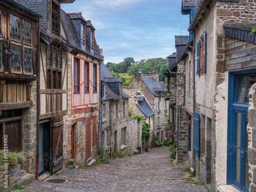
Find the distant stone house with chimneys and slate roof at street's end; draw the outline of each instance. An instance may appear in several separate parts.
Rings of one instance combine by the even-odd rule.
[[[168,133],[164,129],[169,105],[169,101],[164,100],[167,91],[166,84],[159,81],[159,73],[154,69],[153,72],[147,72],[145,76],[142,72],[136,73],[128,87],[140,91],[152,106],[155,115],[150,116],[148,121],[153,127],[156,139],[163,142],[168,137]]]

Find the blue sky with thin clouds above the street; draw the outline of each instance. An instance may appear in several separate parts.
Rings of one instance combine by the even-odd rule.
[[[175,35],[188,35],[181,0],[76,0],[61,9],[92,21],[104,63],[165,58],[175,52]]]

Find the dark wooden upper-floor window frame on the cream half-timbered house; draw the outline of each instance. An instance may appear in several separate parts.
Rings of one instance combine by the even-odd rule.
[[[50,65],[48,65],[48,47],[51,49]],[[53,67],[53,49],[56,49],[56,67]],[[61,68],[58,68],[58,52],[60,52]],[[47,67],[47,84],[46,89],[61,90],[62,89],[62,51],[58,48],[46,45],[46,67]],[[48,74],[48,72],[50,74]],[[55,77],[54,77],[55,76]],[[48,81],[50,79],[50,81]],[[54,82],[55,79],[55,82]]]

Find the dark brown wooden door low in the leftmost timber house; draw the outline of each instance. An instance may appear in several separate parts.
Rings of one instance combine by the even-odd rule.
[[[10,151],[22,150],[22,129],[20,120],[5,123],[5,135],[8,135],[8,148]]]

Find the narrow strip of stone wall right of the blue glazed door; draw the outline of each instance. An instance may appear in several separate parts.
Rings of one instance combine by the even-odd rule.
[[[250,89],[248,110],[248,161],[250,191],[256,191],[256,83]]]

